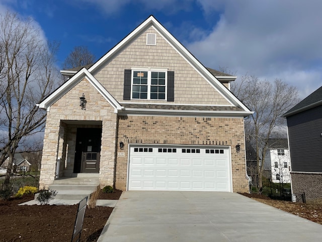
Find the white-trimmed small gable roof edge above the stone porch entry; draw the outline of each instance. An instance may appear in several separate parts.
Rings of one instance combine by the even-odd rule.
[[[116,99],[99,83],[96,78],[86,69],[83,68],[81,71],[77,72],[72,78],[66,81],[58,89],[56,89],[52,94],[46,97],[41,103],[37,104],[40,108],[44,108],[49,111],[50,106],[56,102],[59,98],[65,95],[72,87],[77,83],[82,81],[84,78],[94,86],[94,88],[117,110],[122,109],[122,106],[116,101]]]

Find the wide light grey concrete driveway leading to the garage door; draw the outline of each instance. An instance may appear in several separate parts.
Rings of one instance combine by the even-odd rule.
[[[322,241],[322,225],[235,193],[128,191],[98,241]]]

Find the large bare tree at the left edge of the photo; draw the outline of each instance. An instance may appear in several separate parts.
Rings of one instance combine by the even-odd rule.
[[[58,44],[40,36],[31,19],[10,12],[0,15],[0,165],[9,159],[5,187],[22,139],[43,129],[46,112],[36,103],[53,90],[58,77]]]

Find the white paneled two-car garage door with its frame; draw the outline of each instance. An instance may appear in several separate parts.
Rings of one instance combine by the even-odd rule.
[[[141,153],[138,155],[134,155],[134,148],[138,148],[144,151],[150,151],[148,148],[153,148],[152,153]],[[159,153],[159,149],[163,149],[166,153]],[[173,150],[173,151],[172,151]],[[191,152],[189,154],[182,153],[185,150]],[[136,149],[136,151],[138,151]],[[176,152],[169,153],[169,151]],[[223,154],[219,154],[218,152],[223,152]],[[132,153],[131,153],[132,152]],[[194,153],[192,153],[194,152]],[[197,153],[199,152],[199,153]],[[208,152],[206,154],[206,152]],[[142,164],[142,161],[138,158],[138,156],[143,155],[146,158],[147,162],[150,162],[151,166],[147,164]],[[176,159],[172,159],[175,156],[176,159],[179,159],[176,163]],[[136,157],[136,158],[135,158]],[[170,158],[171,157],[171,158]],[[132,160],[132,158],[134,160]],[[212,160],[213,159],[213,160]],[[145,159],[144,159],[145,160]],[[141,163],[139,163],[141,162]],[[160,164],[159,162],[165,162],[164,164]],[[171,163],[174,162],[174,163]],[[184,163],[188,162],[188,163]],[[202,162],[202,164],[200,163]],[[133,164],[136,165],[133,168]],[[196,164],[196,166],[195,166]],[[217,165],[216,165],[217,164]],[[132,166],[131,166],[132,165]],[[171,169],[168,169],[170,166]],[[209,165],[209,166],[207,166]],[[138,168],[137,168],[138,167]],[[174,169],[172,169],[174,167]],[[182,168],[183,167],[183,168]],[[143,169],[144,168],[144,169]],[[145,169],[146,168],[146,169]],[[157,169],[156,169],[157,168]],[[176,171],[177,170],[177,171]],[[174,175],[170,177],[170,171],[179,173],[179,177]],[[137,172],[137,179],[133,178],[134,172]],[[144,175],[142,176],[142,172]],[[169,183],[169,186],[166,186],[166,189],[162,188],[165,180],[162,181],[163,177],[157,178],[155,174],[158,173],[160,176],[165,176],[164,179]],[[163,173],[164,172],[164,173]],[[169,174],[168,174],[169,172]],[[148,174],[150,173],[150,174]],[[163,174],[160,174],[163,173]],[[186,173],[186,174],[185,174]],[[139,187],[130,186],[139,183],[139,180],[145,179],[146,174],[150,177],[154,177],[157,181],[157,186],[151,185],[139,189]],[[196,176],[192,174],[197,174]],[[198,176],[202,174],[202,177],[198,178]],[[210,174],[210,175],[209,175]],[[169,176],[168,176],[169,175]],[[185,175],[186,178],[184,177]],[[189,177],[189,175],[191,177]],[[218,180],[214,181],[212,175],[219,177]],[[203,177],[205,176],[205,177]],[[221,176],[221,177],[220,177]],[[141,178],[140,178],[141,177]],[[177,177],[177,179],[176,179]],[[188,177],[188,179],[187,179]],[[197,178],[196,178],[197,177]],[[153,178],[153,179],[154,179]],[[160,180],[161,179],[161,180]],[[170,179],[170,180],[169,180]],[[155,180],[154,180],[155,181]],[[155,183],[156,183],[155,181]],[[176,185],[180,182],[180,187],[176,188]],[[190,181],[190,183],[189,183]],[[213,184],[212,184],[213,181]],[[142,181],[143,182],[143,181]],[[145,184],[152,183],[152,181],[146,181]],[[170,183],[172,184],[170,186]],[[216,183],[216,184],[215,184]],[[227,183],[227,184],[225,184]],[[147,191],[216,191],[216,192],[232,192],[232,171],[231,171],[231,149],[230,146],[205,146],[205,145],[154,145],[154,144],[129,144],[128,145],[128,165],[127,165],[127,186],[126,190],[147,190]],[[161,184],[161,185],[160,185]],[[160,185],[160,186],[159,186]],[[185,187],[186,186],[186,187]]]

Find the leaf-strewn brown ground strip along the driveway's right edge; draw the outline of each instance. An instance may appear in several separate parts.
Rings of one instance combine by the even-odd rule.
[[[322,203],[310,204],[310,203],[293,203],[288,201],[273,200],[264,195],[258,194],[246,194],[241,195],[250,197],[261,203],[268,204],[272,207],[281,209],[285,212],[294,214],[296,216],[308,219],[315,223],[322,224]]]

